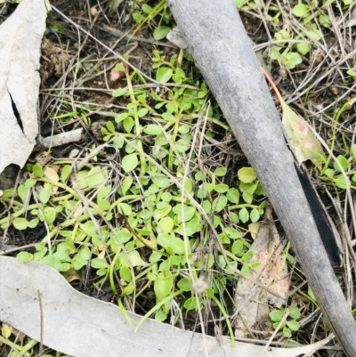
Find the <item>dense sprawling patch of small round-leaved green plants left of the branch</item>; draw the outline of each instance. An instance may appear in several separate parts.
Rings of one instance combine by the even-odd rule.
[[[147,19],[166,11],[166,5],[137,5],[150,10]],[[198,69],[186,70],[188,61],[184,51],[153,52],[156,79],[170,84],[159,91],[117,63],[122,76],[112,96],[123,109],[101,127],[105,145],[88,145],[79,168],[73,158],[28,164],[26,180],[0,197],[12,201],[10,227],[46,230],[20,260],[62,273],[91,268],[95,286],[109,284],[124,314],[127,301],[150,290],[155,304],[142,322],[151,315],[167,320],[173,300],[181,312],[199,312],[213,301],[226,316],[231,281],[259,265],[247,263],[253,256],[247,224],[263,215],[265,192],[251,167],[231,174],[230,167],[199,161],[209,157],[204,146],[229,127],[216,103],[206,105],[206,83],[196,79]],[[93,126],[88,113],[95,107],[78,108],[64,101],[53,120]],[[1,228],[8,223],[0,219]],[[197,288],[203,280],[205,288]],[[232,337],[230,320],[226,327]]]

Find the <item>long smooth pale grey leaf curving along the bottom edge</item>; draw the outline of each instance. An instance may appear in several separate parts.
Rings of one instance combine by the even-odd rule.
[[[115,304],[77,292],[53,268],[7,256],[0,256],[0,284],[0,320],[39,341],[42,317],[44,345],[75,357],[117,357],[117,352],[120,357],[200,357],[206,355],[205,351],[214,357],[297,357],[329,341],[289,349],[239,342],[234,349],[228,338],[219,345],[215,337],[203,337],[152,319],[135,331],[140,316],[127,312],[133,324],[130,327]]]

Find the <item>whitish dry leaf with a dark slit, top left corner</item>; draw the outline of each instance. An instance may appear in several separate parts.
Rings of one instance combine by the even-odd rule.
[[[44,0],[24,0],[0,27],[0,173],[24,166],[36,144],[46,7]]]

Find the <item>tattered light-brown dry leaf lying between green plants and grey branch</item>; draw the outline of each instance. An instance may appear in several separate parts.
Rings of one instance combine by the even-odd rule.
[[[287,304],[289,276],[283,248],[283,241],[279,238],[274,223],[269,220],[261,223],[250,248],[254,252],[254,257],[248,261],[260,262],[261,265],[251,270],[248,279],[241,276],[236,288],[236,337],[251,337],[251,329],[255,332],[271,331],[271,306],[279,308]],[[268,288],[268,291],[261,287]]]

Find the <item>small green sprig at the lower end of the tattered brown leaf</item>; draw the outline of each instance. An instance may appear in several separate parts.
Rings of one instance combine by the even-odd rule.
[[[283,336],[290,338],[292,337],[292,331],[297,331],[300,329],[299,322],[301,313],[297,306],[291,309],[275,309],[270,312],[270,318],[273,321],[273,329],[282,329]]]

